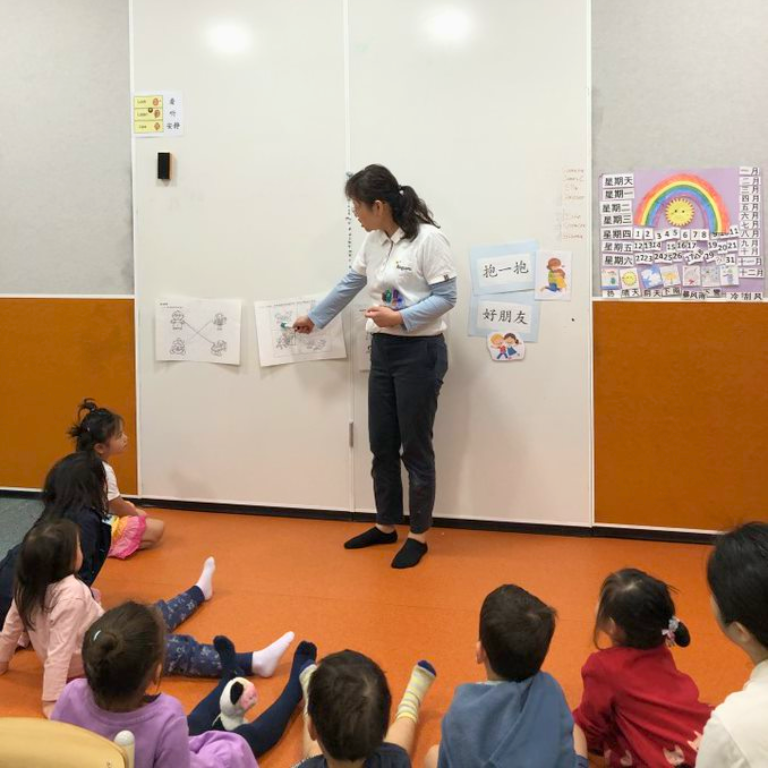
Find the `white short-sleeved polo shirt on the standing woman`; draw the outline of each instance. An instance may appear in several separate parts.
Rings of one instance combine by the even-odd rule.
[[[448,238],[431,224],[421,224],[412,240],[405,238],[402,229],[391,238],[380,229],[369,232],[352,269],[366,276],[373,304],[392,309],[411,307],[432,293],[430,286],[456,277]],[[368,333],[393,336],[437,336],[446,328],[443,316],[412,333],[403,326],[379,328],[373,320],[366,324]]]

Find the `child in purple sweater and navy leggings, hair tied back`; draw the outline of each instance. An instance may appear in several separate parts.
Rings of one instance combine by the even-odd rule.
[[[83,641],[86,679],[65,689],[53,719],[87,728],[108,739],[123,730],[136,738],[136,768],[257,768],[256,758],[283,735],[301,702],[299,674],[317,649],[300,643],[288,684],[254,722],[231,732],[221,728],[219,701],[227,683],[242,671],[232,643],[214,641],[224,670],[219,685],[187,718],[181,703],[163,693],[149,695],[162,677],[165,628],[156,612],[138,603],[107,611]]]

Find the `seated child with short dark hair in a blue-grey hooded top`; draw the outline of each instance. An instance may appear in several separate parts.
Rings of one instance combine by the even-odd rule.
[[[476,654],[487,682],[456,689],[427,768],[586,768],[574,751],[563,691],[541,671],[555,617],[554,609],[514,584],[485,598]]]

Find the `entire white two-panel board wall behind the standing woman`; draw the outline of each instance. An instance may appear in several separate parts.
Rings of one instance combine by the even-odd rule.
[[[384,163],[426,198],[459,265],[435,514],[591,522],[589,241],[555,234],[563,170],[590,167],[588,2],[443,8],[349,0],[345,26],[342,0],[134,0],[135,88],[183,91],[187,120],[183,139],[136,147],[144,495],[373,509],[357,366],[259,369],[251,318],[239,370],[155,364],[151,348],[161,293],[248,305],[330,288],[347,265],[349,152],[352,169]],[[250,53],[210,52],[221,19],[244,25]],[[160,149],[178,158],[170,188],[153,180]],[[528,238],[574,251],[573,300],[542,307],[524,362],[494,365],[466,333],[469,248]]]

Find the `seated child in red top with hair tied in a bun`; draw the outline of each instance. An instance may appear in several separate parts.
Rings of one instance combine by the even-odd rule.
[[[600,648],[600,633],[610,648]],[[634,568],[612,573],[600,589],[594,642],[573,713],[588,750],[609,768],[693,766],[712,708],[670,651],[691,642],[670,588]]]

